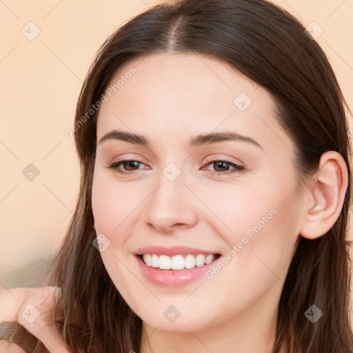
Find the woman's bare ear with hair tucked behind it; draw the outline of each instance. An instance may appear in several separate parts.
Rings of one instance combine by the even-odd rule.
[[[348,184],[345,160],[338,152],[325,152],[320,159],[316,180],[307,183],[304,221],[300,234],[316,239],[326,234],[339,218]]]

